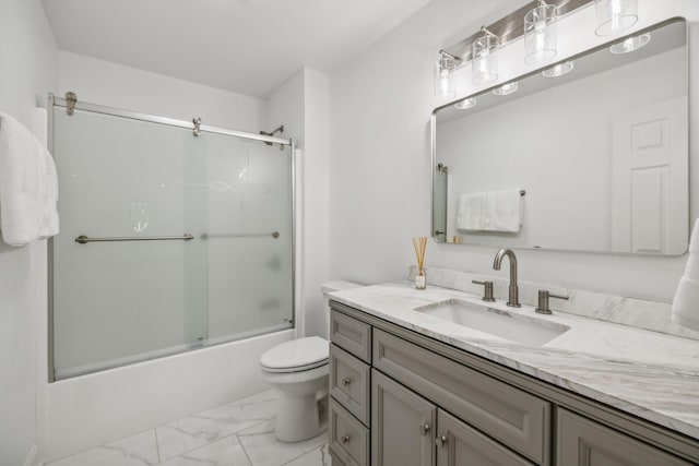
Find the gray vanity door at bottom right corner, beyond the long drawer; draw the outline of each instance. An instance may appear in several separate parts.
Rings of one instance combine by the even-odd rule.
[[[561,466],[689,466],[676,456],[565,409],[558,410]]]

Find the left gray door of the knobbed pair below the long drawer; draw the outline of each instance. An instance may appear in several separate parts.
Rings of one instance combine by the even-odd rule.
[[[431,466],[437,408],[371,370],[371,465]]]

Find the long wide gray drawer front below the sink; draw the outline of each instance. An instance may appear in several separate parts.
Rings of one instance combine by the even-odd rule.
[[[548,402],[378,328],[374,366],[537,464],[549,464]]]

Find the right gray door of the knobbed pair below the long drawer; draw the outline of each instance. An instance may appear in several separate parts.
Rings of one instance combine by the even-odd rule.
[[[437,427],[437,466],[532,466],[441,409],[438,410]]]

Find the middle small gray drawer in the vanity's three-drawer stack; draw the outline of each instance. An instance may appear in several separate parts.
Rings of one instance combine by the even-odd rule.
[[[365,425],[369,423],[369,366],[330,345],[330,394]]]

